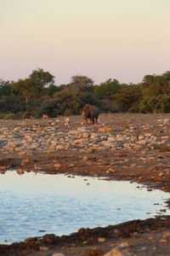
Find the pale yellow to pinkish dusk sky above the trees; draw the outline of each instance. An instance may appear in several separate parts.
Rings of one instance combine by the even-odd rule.
[[[0,79],[38,67],[139,83],[170,70],[170,0],[0,0]]]

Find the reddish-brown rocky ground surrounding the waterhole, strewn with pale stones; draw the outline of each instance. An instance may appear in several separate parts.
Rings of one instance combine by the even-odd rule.
[[[101,114],[98,125],[84,125],[80,116],[0,120],[0,172],[105,176],[169,192],[169,128],[170,114]],[[71,236],[29,238],[1,245],[0,255],[169,255],[169,228],[165,215]]]

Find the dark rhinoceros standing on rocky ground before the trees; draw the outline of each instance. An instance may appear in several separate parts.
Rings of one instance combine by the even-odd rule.
[[[84,108],[82,108],[82,118],[86,120],[88,124],[88,119],[91,120],[94,124],[98,122],[99,117],[99,108],[94,105],[86,104]]]

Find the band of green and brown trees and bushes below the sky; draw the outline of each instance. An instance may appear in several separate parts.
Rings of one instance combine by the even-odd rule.
[[[42,68],[26,79],[0,79],[0,119],[75,115],[86,103],[98,106],[100,113],[170,113],[170,71],[145,75],[139,84],[117,79],[94,84],[93,79],[76,75],[71,83],[56,85],[54,76]]]

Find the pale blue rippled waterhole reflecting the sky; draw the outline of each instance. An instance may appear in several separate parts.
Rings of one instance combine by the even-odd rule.
[[[67,235],[82,227],[104,227],[160,214],[169,193],[137,186],[97,177],[0,174],[0,243],[51,233]]]

